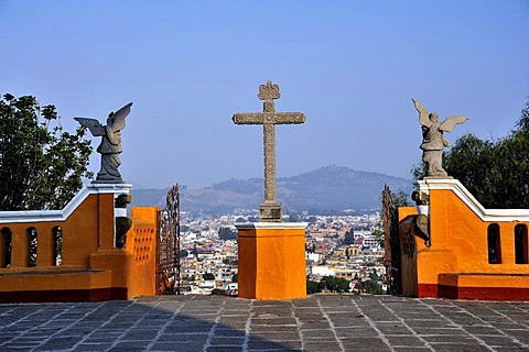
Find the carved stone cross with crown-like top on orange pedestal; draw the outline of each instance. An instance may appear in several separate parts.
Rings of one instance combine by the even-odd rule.
[[[276,112],[274,99],[279,99],[279,86],[270,80],[259,86],[257,97],[263,102],[263,112],[236,113],[235,124],[262,124],[264,140],[264,202],[259,206],[261,221],[280,222],[281,204],[276,199],[276,124],[300,124],[305,122],[301,112]]]

